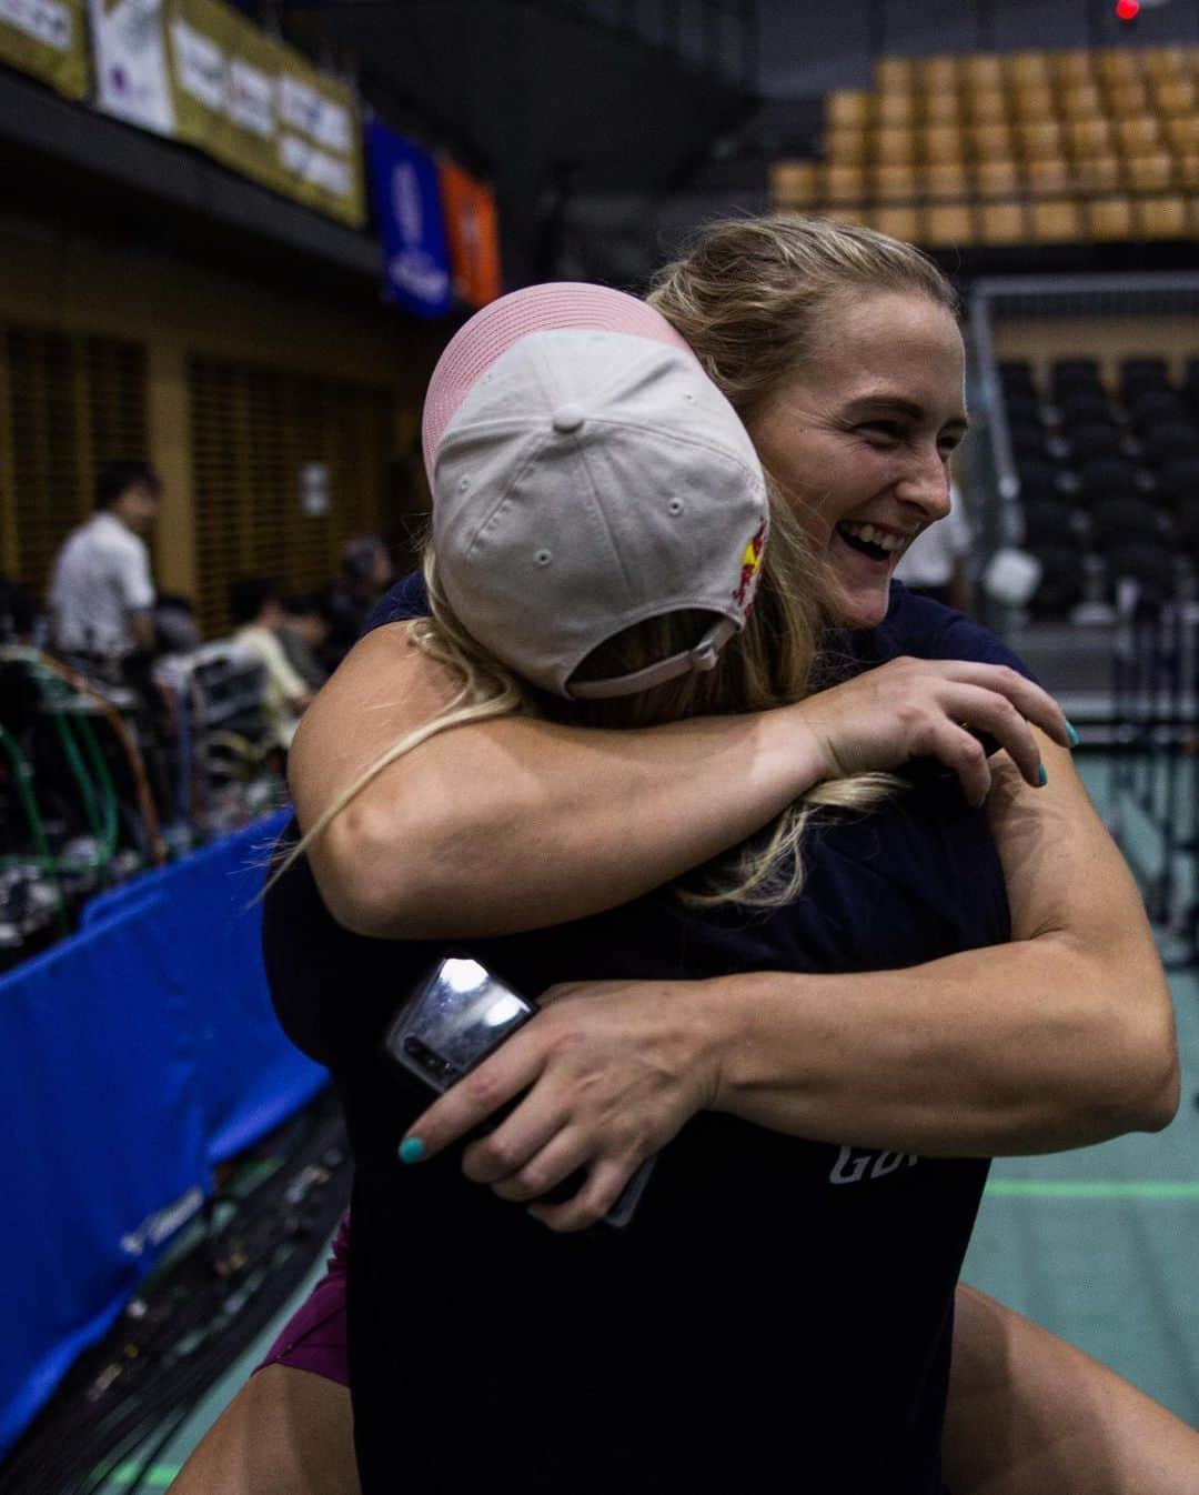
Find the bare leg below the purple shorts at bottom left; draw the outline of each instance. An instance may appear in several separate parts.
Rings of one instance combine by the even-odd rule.
[[[172,1495],[357,1495],[350,1392],[286,1365],[251,1375],[196,1444]]]

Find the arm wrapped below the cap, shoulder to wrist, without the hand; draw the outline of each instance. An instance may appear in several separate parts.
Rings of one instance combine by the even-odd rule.
[[[300,827],[456,688],[404,623],[360,640],[292,746]],[[785,710],[619,733],[477,722],[386,768],[309,860],[330,912],[360,934],[516,933],[613,907],[707,861],[822,771]]]

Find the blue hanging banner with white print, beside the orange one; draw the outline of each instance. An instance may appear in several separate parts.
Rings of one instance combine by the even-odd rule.
[[[383,293],[422,317],[443,317],[453,283],[437,163],[378,120],[366,126],[366,163],[383,241]]]

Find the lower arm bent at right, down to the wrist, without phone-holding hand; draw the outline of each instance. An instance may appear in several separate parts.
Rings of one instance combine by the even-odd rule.
[[[867,976],[712,990],[721,1109],[798,1136],[927,1154],[1081,1147],[1178,1105],[1169,990],[1132,878],[1069,753],[1000,767],[988,810],[1009,945]]]

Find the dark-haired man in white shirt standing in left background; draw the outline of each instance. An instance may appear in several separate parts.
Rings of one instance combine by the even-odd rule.
[[[108,462],[96,513],[73,529],[54,562],[51,640],[67,653],[120,659],[154,647],[150,534],[161,483],[145,462]]]

